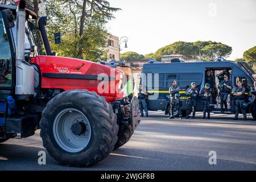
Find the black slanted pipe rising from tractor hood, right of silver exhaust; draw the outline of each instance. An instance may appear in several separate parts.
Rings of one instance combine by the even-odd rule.
[[[47,24],[47,16],[41,16],[38,19],[38,27],[42,35],[44,48],[46,49],[46,55],[52,56],[52,49],[51,49],[51,45],[49,44],[49,39],[46,32],[46,24]]]

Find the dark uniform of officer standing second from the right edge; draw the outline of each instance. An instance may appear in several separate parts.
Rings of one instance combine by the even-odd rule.
[[[241,92],[241,96],[234,96],[234,99],[236,100],[236,114],[235,114],[235,119],[238,119],[238,114],[239,111],[241,110],[241,113],[243,114],[243,119],[246,119],[246,111],[243,109],[243,101],[245,100],[245,88],[236,88],[234,93]]]

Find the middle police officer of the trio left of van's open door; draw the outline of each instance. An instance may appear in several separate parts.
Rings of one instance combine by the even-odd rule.
[[[188,101],[187,101],[187,117],[186,117],[186,119],[189,118],[189,113],[190,113],[191,109],[192,109],[192,113],[193,113],[192,118],[195,119],[196,102],[197,102],[197,96],[199,94],[199,90],[196,88],[195,82],[191,83],[191,88],[188,88],[186,90],[186,94],[189,95]]]

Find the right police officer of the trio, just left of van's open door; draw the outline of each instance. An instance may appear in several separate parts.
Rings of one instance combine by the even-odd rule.
[[[210,119],[210,84],[205,84],[205,87],[200,90],[199,96],[203,101],[204,107],[204,116],[203,118],[206,119],[206,113],[208,114],[207,118]]]

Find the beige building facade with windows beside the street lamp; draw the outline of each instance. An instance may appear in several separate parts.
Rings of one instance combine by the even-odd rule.
[[[114,60],[115,62],[119,61],[119,38],[114,35],[110,35],[108,38],[108,56],[107,61],[110,62]]]

